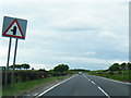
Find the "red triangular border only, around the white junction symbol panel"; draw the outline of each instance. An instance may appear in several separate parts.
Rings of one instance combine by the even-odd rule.
[[[10,29],[10,27],[11,27],[15,22],[16,22],[16,25],[17,25],[17,27],[19,27],[20,33],[21,33],[22,36],[14,36],[14,35],[8,35],[8,34],[5,34],[5,33]],[[14,21],[11,23],[11,25],[9,25],[9,27],[7,28],[7,30],[4,30],[4,33],[3,33],[3,36],[14,37],[14,38],[23,38],[23,39],[25,38],[25,37],[24,37],[24,34],[23,34],[23,32],[22,32],[22,29],[21,29],[21,26],[20,26],[20,24],[19,24],[19,22],[17,22],[17,20],[14,20]]]

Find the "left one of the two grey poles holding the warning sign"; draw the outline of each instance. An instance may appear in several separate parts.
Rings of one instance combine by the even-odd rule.
[[[11,42],[12,42],[12,38],[10,37],[10,40],[9,40],[9,51],[8,51],[8,61],[7,61],[7,69],[5,69],[5,85],[8,84],[8,71],[9,71]]]

